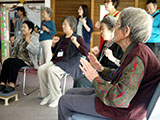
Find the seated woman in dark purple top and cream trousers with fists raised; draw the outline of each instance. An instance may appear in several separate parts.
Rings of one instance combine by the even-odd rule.
[[[53,38],[54,56],[50,62],[38,69],[40,94],[44,98],[40,105],[47,103],[49,103],[49,107],[58,105],[62,95],[60,79],[66,72],[73,78],[82,75],[79,68],[80,58],[87,56],[88,49],[82,37],[74,34],[76,25],[77,20],[73,16],[67,16],[63,19],[62,29],[65,35],[61,38]]]

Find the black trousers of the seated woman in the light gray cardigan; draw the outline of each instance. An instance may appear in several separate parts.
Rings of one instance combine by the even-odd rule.
[[[23,60],[18,58],[8,58],[4,61],[2,65],[0,82],[5,84],[8,82],[16,83],[18,71],[21,67],[27,66]],[[7,81],[8,80],[8,81]]]

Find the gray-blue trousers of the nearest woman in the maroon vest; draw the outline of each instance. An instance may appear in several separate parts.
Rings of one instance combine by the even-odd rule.
[[[69,89],[59,100],[58,120],[70,120],[74,113],[103,117],[95,109],[94,88]]]

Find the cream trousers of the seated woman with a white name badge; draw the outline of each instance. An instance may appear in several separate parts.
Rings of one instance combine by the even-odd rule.
[[[50,102],[55,101],[61,93],[60,80],[65,71],[56,66],[52,61],[43,64],[38,68],[38,78],[41,97],[50,95]]]

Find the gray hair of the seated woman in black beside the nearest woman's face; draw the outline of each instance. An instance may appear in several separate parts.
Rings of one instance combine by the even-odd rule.
[[[117,19],[113,16],[107,16],[103,18],[101,24],[102,23],[104,23],[107,26],[108,30],[112,31],[117,25]]]

